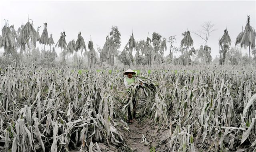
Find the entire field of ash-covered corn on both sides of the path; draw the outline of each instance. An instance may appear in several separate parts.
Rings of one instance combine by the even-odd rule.
[[[255,151],[255,71],[185,69],[141,70],[145,77],[124,92],[118,69],[9,66],[0,74],[4,150],[125,149],[121,129],[129,127],[120,113],[126,117],[132,99],[144,98],[141,116],[158,131],[169,129],[164,151]]]

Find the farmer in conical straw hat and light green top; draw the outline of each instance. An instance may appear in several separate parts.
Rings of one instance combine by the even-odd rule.
[[[128,69],[124,72],[124,75],[127,75],[127,77],[124,78],[124,85],[126,87],[126,91],[129,91],[129,87],[131,86],[131,84],[136,83],[136,80],[134,78],[136,75],[136,72],[134,72],[131,69]],[[129,102],[129,100],[130,100],[130,97],[127,99],[127,103]],[[132,99],[132,105],[133,105],[133,116],[131,113],[130,106],[128,106],[128,123],[132,123],[132,120],[136,118],[136,100],[135,99]]]

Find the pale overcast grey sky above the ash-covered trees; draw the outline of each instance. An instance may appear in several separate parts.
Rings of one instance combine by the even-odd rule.
[[[6,19],[9,20],[9,25],[14,24],[17,30],[21,24],[28,22],[28,14],[35,29],[41,26],[40,34],[43,23],[47,22],[48,34],[53,34],[55,43],[62,31],[66,33],[67,43],[72,39],[76,40],[81,31],[86,47],[91,35],[95,49],[96,44],[103,47],[111,26],[118,26],[122,41],[120,50],[130,38],[132,28],[135,40],[146,39],[148,32],[150,38],[153,32],[158,32],[167,39],[176,35],[175,46],[178,47],[182,40],[181,34],[187,29],[197,31],[204,22],[211,21],[216,28],[208,40],[213,58],[219,54],[218,39],[226,28],[233,46],[242,26],[246,25],[247,15],[250,15],[251,26],[256,28],[256,1],[0,0],[1,29]],[[191,36],[194,40],[193,46],[199,48],[203,43],[202,39],[194,34]],[[39,48],[43,47],[39,45]],[[165,52],[165,55],[167,54],[168,51]]]

